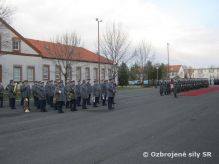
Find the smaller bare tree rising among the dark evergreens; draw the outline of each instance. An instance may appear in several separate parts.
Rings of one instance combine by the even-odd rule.
[[[139,73],[143,84],[146,76],[148,79],[148,62],[152,62],[155,57],[155,53],[152,49],[151,43],[146,43],[145,41],[142,41],[135,49],[134,55],[136,58],[136,63],[138,63],[138,65],[140,66]]]

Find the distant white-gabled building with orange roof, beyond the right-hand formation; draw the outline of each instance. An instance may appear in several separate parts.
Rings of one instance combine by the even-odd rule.
[[[182,65],[170,65],[169,66],[170,78],[184,78],[185,71]]]

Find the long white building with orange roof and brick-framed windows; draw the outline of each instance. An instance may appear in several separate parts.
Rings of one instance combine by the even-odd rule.
[[[6,86],[14,81],[64,80],[58,61],[66,60],[60,55],[48,53],[49,45],[59,45],[24,38],[0,18],[0,81]],[[104,57],[81,48],[71,58],[69,80],[108,79],[112,76],[112,62]],[[50,51],[52,52],[52,51]],[[69,60],[69,59],[68,59]]]

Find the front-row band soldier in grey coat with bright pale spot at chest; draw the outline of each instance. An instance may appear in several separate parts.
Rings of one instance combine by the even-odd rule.
[[[58,110],[58,113],[64,113],[64,111],[62,110],[62,106],[65,101],[65,88],[62,85],[61,81],[55,88],[54,98],[56,100],[56,108]]]

